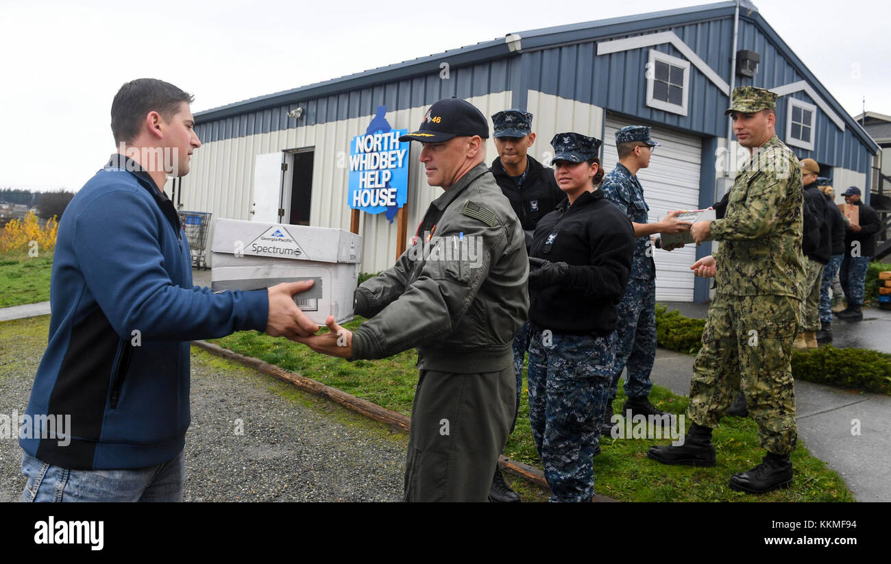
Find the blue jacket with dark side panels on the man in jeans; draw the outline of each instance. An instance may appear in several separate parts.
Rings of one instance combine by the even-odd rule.
[[[266,290],[192,287],[173,203],[122,155],[61,218],[50,303],[20,445],[71,470],[142,468],[179,454],[190,422],[189,341],[264,331],[269,308]],[[45,421],[65,415],[69,429],[53,437]]]

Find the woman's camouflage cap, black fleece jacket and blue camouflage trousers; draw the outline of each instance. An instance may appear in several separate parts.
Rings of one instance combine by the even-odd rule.
[[[582,162],[597,155],[601,142],[570,133],[552,144],[554,160]],[[615,362],[616,304],[633,245],[631,223],[600,190],[583,192],[572,206],[564,202],[535,230],[530,256],[569,260],[568,268],[592,273],[590,284],[576,279],[533,291],[529,421],[552,502],[593,499],[593,455]]]

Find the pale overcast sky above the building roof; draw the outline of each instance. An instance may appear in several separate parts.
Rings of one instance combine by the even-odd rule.
[[[111,99],[133,78],[180,86],[200,111],[509,32],[697,4],[0,0],[0,187],[78,190],[115,150]],[[887,4],[755,4],[849,113],[865,96],[891,114]]]

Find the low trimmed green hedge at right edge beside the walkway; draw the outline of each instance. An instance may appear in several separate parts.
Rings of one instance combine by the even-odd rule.
[[[792,375],[800,380],[891,393],[891,355],[866,348],[825,345],[792,352]]]

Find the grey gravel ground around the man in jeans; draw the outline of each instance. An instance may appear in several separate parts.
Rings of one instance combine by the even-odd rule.
[[[48,316],[0,323],[0,414],[28,405],[48,323]],[[0,502],[18,501],[21,450],[2,430]],[[192,349],[184,501],[399,501],[406,441],[290,384]]]

